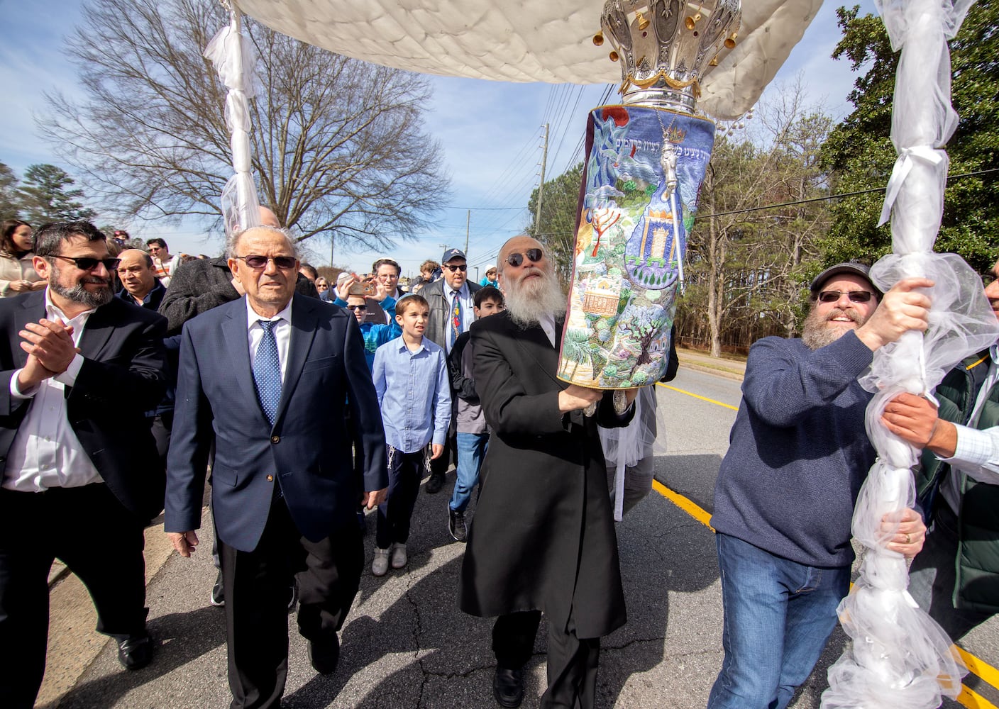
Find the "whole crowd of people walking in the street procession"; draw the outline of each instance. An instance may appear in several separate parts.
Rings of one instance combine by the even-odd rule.
[[[459,607],[496,618],[494,699],[522,702],[543,615],[540,705],[593,707],[600,637],[626,621],[603,448],[618,441],[607,458],[626,478],[619,518],[651,486],[654,391],[615,397],[555,376],[565,296],[527,236],[500,247],[480,284],[448,249],[407,290],[388,258],[370,278],[331,283],[274,213],[261,222],[216,259],[172,256],[162,239],[122,249],[125,232],[108,239],[86,222],[3,223],[4,706],[33,706],[41,685],[55,558],[87,586],[122,665],[154,660],[144,530],[164,511],[190,556],[210,475],[210,597],[225,609],[232,706],[280,707],[288,609],[315,670],[335,672],[365,572],[365,511],[377,509],[371,573],[405,568],[422,481],[439,492],[454,462],[441,521],[466,543]],[[999,318],[997,271],[985,295]],[[874,456],[857,375],[927,329],[932,285],[881,293],[866,267],[836,265],[811,284],[801,338],[751,348],[715,487],[724,659],[708,707],[786,707],[825,646]],[[899,395],[882,418],[924,450],[920,502],[884,517],[885,543],[915,558],[912,595],[954,639],[999,610],[997,354],[963,362],[933,399]],[[663,380],[675,349],[669,361]],[[643,442],[628,456],[625,436],[607,433],[631,426]]]

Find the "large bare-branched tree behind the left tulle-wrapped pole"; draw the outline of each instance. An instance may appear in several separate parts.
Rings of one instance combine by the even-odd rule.
[[[232,176],[226,87],[202,56],[218,0],[88,0],[65,53],[82,101],[50,96],[46,138],[123,217],[219,224]],[[426,77],[327,52],[245,18],[261,203],[299,242],[381,249],[433,224],[450,184],[424,115]]]

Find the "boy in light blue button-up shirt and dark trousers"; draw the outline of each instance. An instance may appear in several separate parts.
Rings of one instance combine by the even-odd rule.
[[[420,481],[429,472],[430,460],[444,453],[451,423],[447,358],[444,350],[424,337],[430,312],[422,296],[401,298],[396,304],[396,322],[403,335],[375,353],[372,376],[389,452],[389,495],[378,508],[372,561],[376,576],[386,574],[390,561],[393,568],[407,564],[406,542]]]

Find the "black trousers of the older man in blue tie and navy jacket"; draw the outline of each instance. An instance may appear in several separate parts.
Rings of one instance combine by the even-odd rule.
[[[361,584],[364,550],[357,522],[310,541],[283,497],[271,502],[253,551],[219,539],[226,588],[226,642],[233,709],[280,707],[288,678],[288,587],[299,583],[299,632],[322,642],[343,627]]]

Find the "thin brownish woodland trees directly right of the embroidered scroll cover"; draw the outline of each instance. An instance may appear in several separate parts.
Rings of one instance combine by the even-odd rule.
[[[751,132],[715,141],[687,242],[677,331],[715,356],[797,331],[805,272],[828,226],[822,202],[769,206],[828,194],[819,150],[831,119],[807,104],[800,82],[758,113]]]

